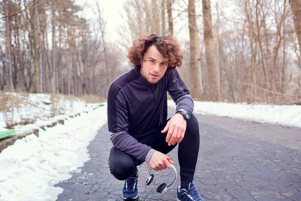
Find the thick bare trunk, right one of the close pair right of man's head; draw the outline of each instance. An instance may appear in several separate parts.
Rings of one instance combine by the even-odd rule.
[[[220,100],[220,71],[215,62],[214,41],[212,34],[210,0],[202,0],[204,20],[204,42],[208,68],[211,100]]]

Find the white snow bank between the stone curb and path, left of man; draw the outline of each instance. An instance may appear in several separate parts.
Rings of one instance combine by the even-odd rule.
[[[89,160],[87,146],[106,122],[106,107],[100,107],[6,148],[0,153],[0,201],[56,200],[63,189],[54,184]]]

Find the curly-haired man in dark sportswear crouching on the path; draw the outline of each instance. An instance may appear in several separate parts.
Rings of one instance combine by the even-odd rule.
[[[181,185],[177,200],[203,200],[192,183],[200,136],[194,103],[176,67],[183,52],[172,36],[140,35],[128,52],[134,69],[117,77],[107,99],[108,129],[113,147],[109,167],[124,181],[123,199],[138,197],[137,166],[144,161],[154,170],[171,167],[166,155],[179,144]],[[167,91],[177,105],[167,120]]]

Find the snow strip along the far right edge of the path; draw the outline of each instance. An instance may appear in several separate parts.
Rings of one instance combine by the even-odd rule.
[[[274,106],[257,104],[229,104],[213,102],[194,102],[194,113],[231,117],[261,123],[280,124],[301,128],[301,106]],[[168,106],[176,108],[173,100]]]

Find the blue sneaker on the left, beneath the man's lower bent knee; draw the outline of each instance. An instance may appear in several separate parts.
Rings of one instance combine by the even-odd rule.
[[[136,168],[136,172],[137,172],[136,176],[128,177],[124,181],[124,186],[122,189],[122,198],[125,200],[132,200],[138,197],[137,183],[138,183],[139,171],[137,168]]]

